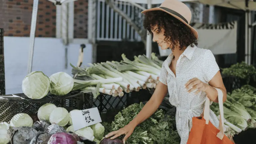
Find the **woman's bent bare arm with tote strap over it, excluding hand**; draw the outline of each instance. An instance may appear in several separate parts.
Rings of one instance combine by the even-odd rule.
[[[213,102],[218,102],[218,92],[215,88],[218,88],[223,93],[223,102],[227,100],[227,90],[223,84],[223,80],[220,74],[220,71],[209,81],[209,85],[206,85],[205,93],[209,99]]]

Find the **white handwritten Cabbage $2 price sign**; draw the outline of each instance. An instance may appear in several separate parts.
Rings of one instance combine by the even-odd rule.
[[[70,115],[75,131],[102,122],[97,107],[79,111],[72,111]]]

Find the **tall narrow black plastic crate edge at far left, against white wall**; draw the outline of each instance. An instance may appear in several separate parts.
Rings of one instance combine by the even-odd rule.
[[[0,95],[5,94],[4,29],[0,29]]]

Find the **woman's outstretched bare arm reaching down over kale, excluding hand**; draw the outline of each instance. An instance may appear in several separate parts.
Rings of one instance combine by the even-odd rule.
[[[134,126],[137,126],[149,118],[158,109],[164,97],[166,96],[167,91],[167,86],[159,82],[150,100],[145,104],[142,110],[130,123]]]

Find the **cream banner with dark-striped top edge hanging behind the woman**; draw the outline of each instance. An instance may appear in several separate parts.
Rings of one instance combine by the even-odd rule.
[[[198,31],[198,47],[210,49],[213,54],[236,53],[237,49],[237,22],[225,24],[200,24],[192,23]],[[171,49],[162,50],[159,47],[160,56],[168,56]]]

